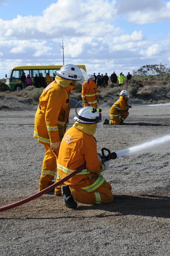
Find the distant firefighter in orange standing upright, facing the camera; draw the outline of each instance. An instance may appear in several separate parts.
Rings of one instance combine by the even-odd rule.
[[[94,82],[94,76],[89,75],[89,80],[84,82],[82,85],[81,98],[83,100],[84,107],[92,106],[97,108],[97,102],[99,102],[99,94],[97,90],[97,85]]]

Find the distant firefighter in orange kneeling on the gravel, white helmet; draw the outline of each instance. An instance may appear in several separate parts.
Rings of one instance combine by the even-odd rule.
[[[127,90],[121,91],[119,100],[115,102],[109,111],[111,120],[105,119],[104,124],[124,124],[123,121],[128,117],[128,109],[131,108],[127,104],[129,94]]]

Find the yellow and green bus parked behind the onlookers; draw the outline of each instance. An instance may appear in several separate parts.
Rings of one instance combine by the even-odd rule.
[[[38,74],[43,74],[43,76],[46,76],[46,73],[49,73],[51,78],[55,78],[55,71],[60,70],[60,68],[63,65],[47,65],[47,66],[17,66],[13,67],[9,71],[9,75],[7,76],[6,74],[6,84],[9,86],[9,88],[12,91],[16,90],[22,90],[22,81],[21,81],[21,76],[23,73],[27,75],[30,75],[32,78],[32,85],[34,85],[34,76]],[[85,65],[76,65],[79,68],[83,68],[86,72],[86,67]]]

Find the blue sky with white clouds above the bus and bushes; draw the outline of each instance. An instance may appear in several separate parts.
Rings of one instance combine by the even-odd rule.
[[[88,73],[170,67],[168,0],[0,0],[0,78],[12,66],[85,64]]]

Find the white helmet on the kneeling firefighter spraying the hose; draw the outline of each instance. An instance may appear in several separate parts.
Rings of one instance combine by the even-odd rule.
[[[101,122],[101,109],[84,107],[79,110],[77,116],[73,118],[79,123],[94,124]]]

